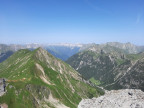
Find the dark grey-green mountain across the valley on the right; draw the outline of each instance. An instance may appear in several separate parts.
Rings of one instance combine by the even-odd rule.
[[[106,89],[134,88],[144,91],[143,59],[142,52],[129,54],[111,45],[93,45],[66,62],[86,79]]]

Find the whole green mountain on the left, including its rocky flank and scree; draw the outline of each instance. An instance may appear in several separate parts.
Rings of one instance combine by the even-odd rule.
[[[81,99],[104,94],[42,48],[15,52],[0,63],[0,78],[6,81],[0,103],[9,108],[77,108]]]

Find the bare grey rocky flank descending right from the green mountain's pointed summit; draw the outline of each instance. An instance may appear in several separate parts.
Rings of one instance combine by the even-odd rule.
[[[40,62],[43,62],[47,65],[48,68],[53,69],[54,71],[60,72],[61,74],[69,74],[75,79],[79,79],[79,75],[75,70],[70,70],[69,65],[66,65],[60,59],[55,58],[53,55],[48,53],[46,50],[42,48],[36,49],[36,53],[34,54],[36,59]]]

